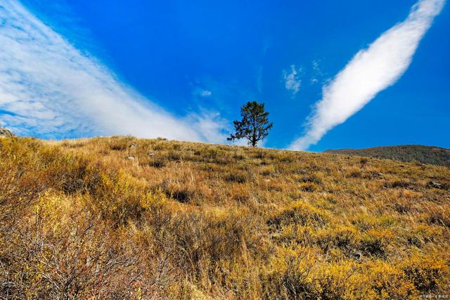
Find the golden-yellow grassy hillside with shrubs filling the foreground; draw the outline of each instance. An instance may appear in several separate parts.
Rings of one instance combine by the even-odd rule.
[[[0,139],[2,299],[450,294],[450,169],[132,137]]]

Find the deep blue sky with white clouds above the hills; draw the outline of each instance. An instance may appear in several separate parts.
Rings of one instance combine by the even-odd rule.
[[[225,143],[257,100],[270,148],[450,148],[444,0],[48,2],[0,0],[0,122],[22,135]]]

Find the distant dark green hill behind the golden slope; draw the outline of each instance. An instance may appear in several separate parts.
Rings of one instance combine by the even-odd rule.
[[[399,145],[366,149],[326,150],[326,153],[378,157],[399,160],[400,162],[421,162],[450,167],[450,149],[423,146]]]

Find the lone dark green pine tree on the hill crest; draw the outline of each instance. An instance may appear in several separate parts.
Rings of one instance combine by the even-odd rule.
[[[234,141],[246,138],[248,144],[256,147],[259,141],[262,141],[269,134],[269,130],[274,126],[269,124],[269,112],[264,110],[264,103],[256,101],[248,102],[240,107],[240,121],[233,122],[236,133],[231,134],[228,141]]]

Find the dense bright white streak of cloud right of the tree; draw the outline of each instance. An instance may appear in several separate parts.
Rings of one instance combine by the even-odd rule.
[[[383,33],[323,86],[323,98],[309,117],[307,132],[290,148],[304,150],[334,126],[361,110],[377,93],[394,84],[409,67],[420,39],[445,0],[420,0],[408,18]]]

